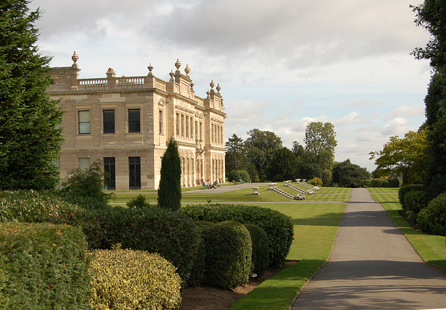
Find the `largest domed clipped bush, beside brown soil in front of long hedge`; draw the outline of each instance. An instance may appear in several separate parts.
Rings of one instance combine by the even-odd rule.
[[[205,281],[222,288],[236,288],[249,281],[252,242],[238,222],[225,221],[203,231],[206,247]]]

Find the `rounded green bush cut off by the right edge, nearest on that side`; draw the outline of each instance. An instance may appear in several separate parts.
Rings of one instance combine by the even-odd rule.
[[[446,235],[446,193],[436,196],[420,211],[417,225],[422,231]]]

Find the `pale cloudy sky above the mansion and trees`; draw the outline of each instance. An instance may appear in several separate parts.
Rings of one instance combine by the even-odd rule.
[[[429,61],[410,53],[429,33],[422,0],[33,0],[39,51],[79,77],[153,75],[190,66],[195,94],[224,98],[226,141],[254,128],[305,146],[311,121],[330,122],[337,162],[376,169],[371,151],[424,123]]]

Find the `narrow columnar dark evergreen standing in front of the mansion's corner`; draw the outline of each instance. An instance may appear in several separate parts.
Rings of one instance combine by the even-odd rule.
[[[160,178],[158,204],[161,208],[178,210],[181,207],[181,161],[173,138],[161,160]]]

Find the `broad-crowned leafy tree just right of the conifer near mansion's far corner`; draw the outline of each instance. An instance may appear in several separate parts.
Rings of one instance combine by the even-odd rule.
[[[245,141],[249,162],[255,164],[259,178],[266,179],[266,168],[275,151],[282,148],[282,139],[274,132],[258,129],[249,130]]]

